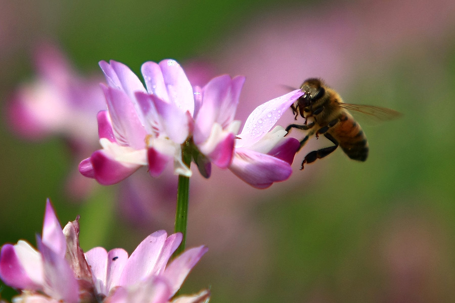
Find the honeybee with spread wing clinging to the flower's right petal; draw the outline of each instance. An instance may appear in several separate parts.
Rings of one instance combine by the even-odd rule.
[[[297,99],[296,104],[291,105],[291,109],[295,120],[300,115],[305,121],[303,125],[289,125],[286,131],[289,133],[291,128],[308,131],[300,141],[300,148],[313,135],[319,138],[323,134],[334,144],[307,154],[302,161],[301,170],[305,163],[312,163],[328,156],[338,145],[349,158],[362,162],[367,160],[369,151],[367,137],[347,110],[361,112],[379,120],[392,120],[401,116],[399,112],[391,109],[344,103],[340,95],[321,79],[307,79],[300,89],[303,95]]]

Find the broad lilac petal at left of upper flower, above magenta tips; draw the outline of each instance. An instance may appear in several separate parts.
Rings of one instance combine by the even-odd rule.
[[[134,149],[144,148],[147,132],[131,99],[121,90],[104,85],[102,88],[117,142]]]

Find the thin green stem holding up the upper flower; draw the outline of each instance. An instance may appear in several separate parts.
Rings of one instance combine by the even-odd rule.
[[[182,158],[185,165],[191,165],[191,151],[189,142],[182,146]],[[180,246],[174,252],[174,257],[178,256],[185,250],[185,240],[187,238],[187,221],[188,221],[188,200],[190,193],[190,177],[178,176],[177,188],[177,208],[175,210],[175,232],[181,232],[183,239]]]

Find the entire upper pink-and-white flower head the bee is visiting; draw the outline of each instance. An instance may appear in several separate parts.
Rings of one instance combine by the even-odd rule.
[[[205,177],[211,164],[229,168],[258,188],[286,180],[298,149],[295,138],[275,125],[302,94],[295,90],[258,107],[237,136],[234,120],[244,77],[222,75],[204,87],[192,87],[174,60],[146,62],[141,80],[125,65],[100,62],[108,86],[102,85],[107,111],[98,114],[103,147],[83,160],[79,171],[101,184],[117,183],[141,166],[159,176],[169,162],[175,174],[191,176],[182,150]],[[271,123],[272,122],[272,123]]]

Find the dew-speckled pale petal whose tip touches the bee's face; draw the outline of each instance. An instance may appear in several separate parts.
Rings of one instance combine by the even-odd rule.
[[[238,135],[242,138],[241,146],[256,143],[262,138],[280,119],[283,113],[303,95],[300,89],[296,89],[278,98],[261,104],[248,116],[242,132]]]

